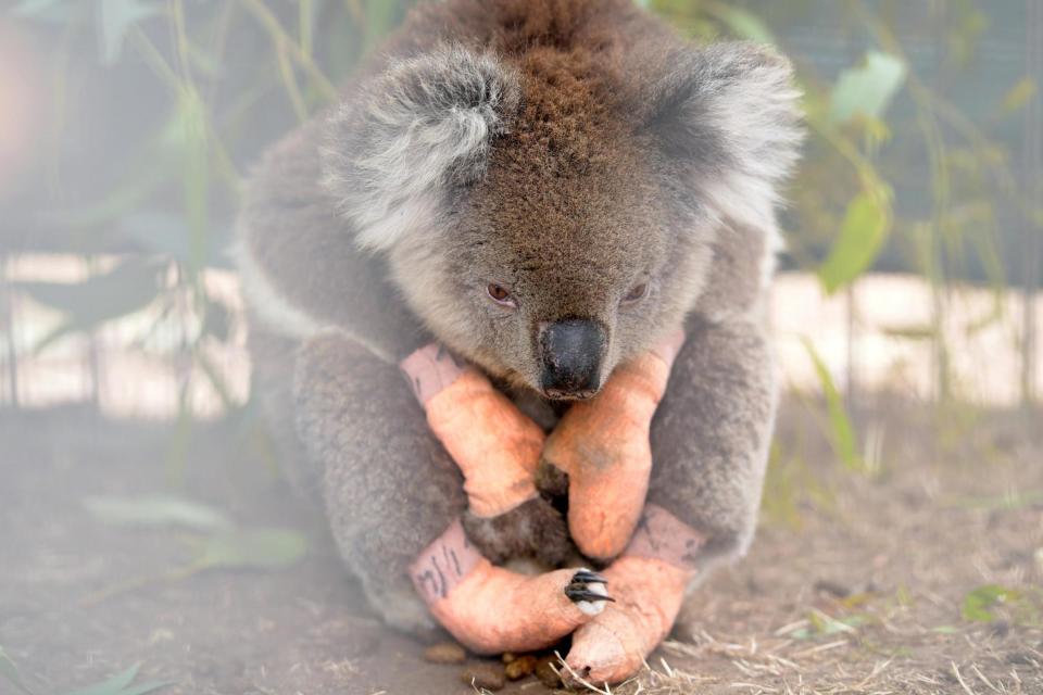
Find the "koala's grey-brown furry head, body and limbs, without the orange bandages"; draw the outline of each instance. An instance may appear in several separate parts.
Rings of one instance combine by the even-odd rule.
[[[398,367],[432,341],[550,429],[683,329],[648,500],[708,539],[702,566],[745,552],[777,401],[763,308],[802,139],[791,78],[630,0],[442,0],[265,154],[238,228],[254,389],[388,623],[436,628],[406,568],[467,504]],[[530,507],[472,541],[561,561],[558,510]]]

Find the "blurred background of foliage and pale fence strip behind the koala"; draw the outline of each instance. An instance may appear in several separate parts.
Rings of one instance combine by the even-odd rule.
[[[108,496],[65,490],[62,504],[78,513],[86,505],[103,522],[115,515],[177,526],[213,506],[250,516],[250,504],[228,490],[282,500],[278,462],[251,403],[226,255],[242,181],[266,146],[335,99],[412,2],[4,4],[0,490],[7,480],[9,520],[21,509],[21,528],[39,504],[15,483],[34,456],[101,446],[118,457],[113,452],[136,438],[148,442],[138,472]],[[1041,3],[640,4],[699,41],[774,43],[794,61],[806,94],[809,139],[788,193],[788,250],[771,305],[787,395],[766,523],[797,529],[816,514],[829,518],[846,484],[832,476],[893,496],[888,452],[908,454],[916,442],[914,458],[941,479],[950,459],[1001,466],[985,476],[978,468],[975,479],[1002,481],[1000,489],[971,492],[992,500],[990,508],[1034,514],[1028,527],[1018,523],[1035,539],[1043,489],[1032,489],[1026,471],[1040,468],[1041,448],[1011,442],[1043,425]],[[45,443],[45,453],[34,448]],[[1021,468],[1002,468],[1010,460]],[[142,483],[148,497],[128,482],[141,467],[154,472]],[[88,470],[90,479],[108,476]],[[59,466],[32,490],[46,497],[66,473],[68,465]],[[930,488],[920,482],[918,490]],[[192,506],[200,496],[212,506]],[[225,565],[281,566],[303,553],[306,534],[264,529],[282,535],[264,535],[260,555]],[[4,540],[0,531],[0,565]],[[990,605],[1014,602],[1003,591],[1028,596],[1015,585],[1039,583],[1043,555],[1034,555],[1035,540],[1026,544],[1029,559],[1008,583],[968,579],[956,605],[966,608],[980,585],[1001,586],[975,598]],[[29,557],[23,551],[12,551],[9,568]],[[58,556],[51,560],[62,567]],[[11,586],[38,582],[37,570],[11,580],[12,615],[28,604]],[[84,581],[112,589],[98,577]],[[14,630],[4,605],[0,594],[0,645],[4,627]]]

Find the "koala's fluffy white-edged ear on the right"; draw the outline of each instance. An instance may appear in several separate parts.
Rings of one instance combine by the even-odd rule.
[[[648,127],[690,165],[712,213],[774,229],[776,187],[804,138],[789,61],[754,43],[717,43],[667,62],[648,97]]]

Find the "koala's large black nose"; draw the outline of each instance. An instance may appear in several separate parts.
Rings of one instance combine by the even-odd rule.
[[[569,318],[540,329],[543,392],[552,399],[588,399],[601,387],[605,330],[592,320]]]

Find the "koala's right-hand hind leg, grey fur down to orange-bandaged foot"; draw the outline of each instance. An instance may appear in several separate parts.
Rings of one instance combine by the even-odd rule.
[[[573,639],[567,664],[577,675],[596,682],[631,675],[668,634],[686,587],[746,549],[775,406],[761,329],[693,321],[652,422],[643,520],[605,570],[617,603]]]

